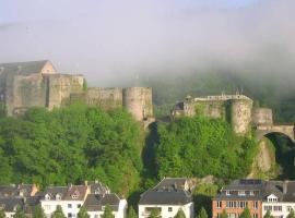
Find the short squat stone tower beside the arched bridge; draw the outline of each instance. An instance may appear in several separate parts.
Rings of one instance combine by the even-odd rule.
[[[255,125],[272,125],[272,109],[270,108],[253,108],[252,123]]]

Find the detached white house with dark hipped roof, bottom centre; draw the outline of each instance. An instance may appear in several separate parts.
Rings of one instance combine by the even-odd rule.
[[[141,195],[139,218],[149,217],[153,209],[165,218],[173,218],[182,209],[187,218],[193,218],[192,187],[186,178],[164,178]]]

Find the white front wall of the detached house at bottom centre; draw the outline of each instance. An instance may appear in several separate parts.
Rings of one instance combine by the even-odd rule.
[[[193,218],[193,203],[186,205],[139,205],[139,218],[148,218],[153,208],[161,210],[163,218],[174,218],[179,209],[182,209],[187,218]]]

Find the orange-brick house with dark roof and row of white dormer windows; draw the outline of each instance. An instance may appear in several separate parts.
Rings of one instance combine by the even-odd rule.
[[[212,201],[212,218],[220,218],[226,210],[228,218],[238,218],[247,206],[252,218],[261,218],[264,182],[235,180],[223,187]]]

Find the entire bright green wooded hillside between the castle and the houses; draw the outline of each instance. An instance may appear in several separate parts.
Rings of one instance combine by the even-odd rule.
[[[219,119],[181,118],[143,130],[122,108],[83,104],[0,118],[0,183],[66,185],[101,180],[125,196],[163,177],[245,177],[256,153]]]

